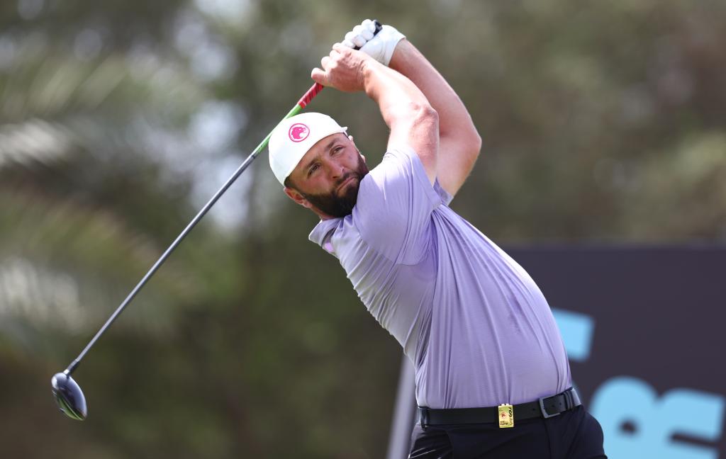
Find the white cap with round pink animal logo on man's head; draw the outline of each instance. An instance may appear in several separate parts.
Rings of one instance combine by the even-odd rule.
[[[333,118],[322,113],[302,113],[289,117],[274,128],[269,141],[270,168],[277,181],[285,185],[298,162],[321,138],[346,132]]]

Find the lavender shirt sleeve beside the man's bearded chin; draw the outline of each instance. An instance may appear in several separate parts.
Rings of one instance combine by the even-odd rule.
[[[431,186],[413,149],[391,149],[361,181],[354,224],[362,239],[389,260],[415,265],[431,244],[431,213],[444,204],[440,193],[448,196],[439,189]]]

